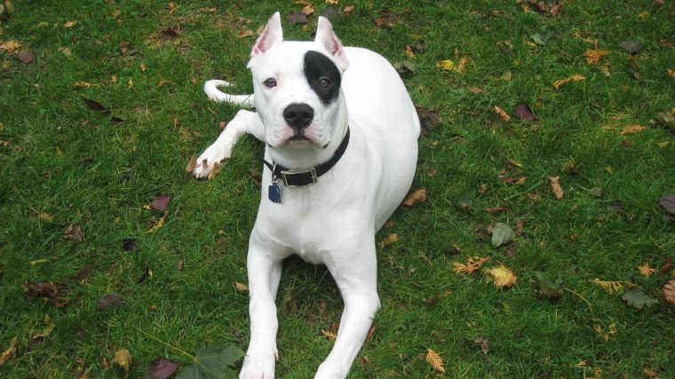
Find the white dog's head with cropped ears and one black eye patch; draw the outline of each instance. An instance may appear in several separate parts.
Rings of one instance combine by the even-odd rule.
[[[272,148],[322,148],[346,122],[342,75],[349,62],[330,21],[312,42],[283,41],[279,12],[250,51],[256,109]],[[339,141],[338,141],[339,143]]]

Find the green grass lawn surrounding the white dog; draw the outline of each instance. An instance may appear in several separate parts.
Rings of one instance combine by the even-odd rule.
[[[239,33],[302,5],[14,3],[0,39],[35,60],[0,51],[0,349],[19,341],[0,376],[123,377],[110,361],[126,348],[129,376],[144,377],[155,358],[189,363],[168,345],[245,349],[248,302],[234,282],[246,282],[262,146],[245,138],[212,181],[195,181],[184,167],[236,112],[208,101],[203,81],[225,76],[250,91],[244,67],[254,37]],[[516,2],[340,2],[354,6],[333,21],[345,44],[397,62],[410,59],[406,45],[425,43],[405,82],[441,118],[419,141],[414,187],[427,189],[427,201],[396,212],[377,236],[400,240],[378,251],[383,307],[351,377],[439,376],[427,348],[441,354],[449,377],[675,376],[675,308],[660,293],[672,271],[645,277],[637,269],[675,258],[675,229],[658,205],[675,192],[675,138],[650,123],[675,99],[667,71],[675,69],[675,7],[664,3],[568,1],[560,16],[547,16]],[[378,27],[381,17],[392,27]],[[285,36],[309,38],[315,20],[285,25]],[[555,33],[533,45],[529,36],[544,29]],[[639,40],[642,51],[631,58],[618,47],[624,40]],[[584,59],[595,48],[609,51],[598,66]],[[436,67],[462,57],[464,75]],[[586,79],[553,88],[573,74]],[[512,114],[521,102],[536,122],[502,122],[493,110]],[[646,129],[622,135],[631,124]],[[548,184],[556,176],[561,200]],[[521,177],[520,185],[504,180]],[[602,188],[600,198],[592,187]],[[147,233],[163,214],[145,207],[162,194],[172,196],[165,223]],[[608,210],[616,200],[624,213]],[[494,207],[507,210],[482,210]],[[523,233],[510,246],[491,245],[490,225],[515,229],[519,220]],[[82,241],[64,238],[69,225],[82,227]],[[125,251],[127,239],[139,249]],[[518,283],[497,289],[482,274],[454,272],[451,263],[468,256],[507,265]],[[139,283],[147,269],[152,276]],[[559,301],[536,296],[534,272],[564,281]],[[633,309],[595,278],[630,283],[660,302]],[[28,296],[24,286],[39,282],[52,282],[66,306]],[[109,292],[123,304],[97,310]],[[338,290],[325,268],[291,259],[278,304],[277,375],[311,377],[332,346],[321,330],[339,320]],[[51,324],[49,336],[31,338]],[[477,337],[489,341],[487,355]]]

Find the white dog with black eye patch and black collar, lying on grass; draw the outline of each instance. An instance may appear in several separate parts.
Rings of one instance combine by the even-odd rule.
[[[261,200],[250,233],[250,344],[241,379],[273,378],[278,359],[274,299],[282,260],[326,265],[345,308],[315,378],[345,378],[380,306],[375,234],[408,193],[420,123],[392,65],[344,47],[320,17],[314,41],[284,41],[279,12],[250,52],[253,95],[204,84],[210,99],[240,110],[192,170],[206,178],[251,134],[266,144]],[[348,68],[348,69],[347,69]]]

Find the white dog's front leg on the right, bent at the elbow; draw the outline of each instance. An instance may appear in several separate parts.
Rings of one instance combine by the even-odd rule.
[[[333,350],[319,367],[314,379],[345,378],[368,336],[380,306],[374,240],[370,244],[372,246],[361,249],[356,257],[338,257],[339,261],[328,263],[345,302],[345,311]]]

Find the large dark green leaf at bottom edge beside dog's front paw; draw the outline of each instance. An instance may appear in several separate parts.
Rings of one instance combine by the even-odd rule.
[[[236,372],[230,366],[243,356],[244,352],[234,345],[213,344],[198,350],[193,364],[185,367],[176,379],[234,378]]]

